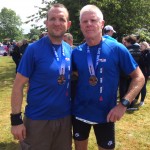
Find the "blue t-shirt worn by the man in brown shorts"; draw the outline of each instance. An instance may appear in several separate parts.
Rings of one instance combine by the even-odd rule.
[[[70,115],[70,56],[72,48],[62,42],[65,52],[66,82],[59,85],[59,66],[48,36],[30,44],[18,72],[29,78],[25,115],[33,120],[54,120]],[[53,45],[61,57],[61,45]]]

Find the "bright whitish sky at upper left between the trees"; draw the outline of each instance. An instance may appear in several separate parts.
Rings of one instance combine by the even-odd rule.
[[[0,0],[0,11],[6,7],[16,12],[17,16],[20,16],[22,22],[27,21],[27,17],[33,15],[38,11],[34,6],[40,6],[42,0]],[[43,24],[39,22],[38,24]],[[32,28],[30,24],[23,24],[22,28],[24,33],[28,33]]]

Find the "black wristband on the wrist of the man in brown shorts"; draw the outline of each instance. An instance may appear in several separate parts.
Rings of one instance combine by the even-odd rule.
[[[10,120],[11,120],[12,126],[23,124],[21,113],[22,112],[20,112],[18,114],[10,114]]]

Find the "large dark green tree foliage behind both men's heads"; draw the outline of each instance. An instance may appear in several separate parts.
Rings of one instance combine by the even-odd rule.
[[[117,31],[115,36],[119,41],[123,35],[135,33],[140,35],[137,30],[141,31],[142,28],[150,33],[150,0],[42,0],[45,7],[39,7],[39,17],[45,17],[50,5],[57,2],[64,4],[69,10],[72,21],[69,32],[73,34],[77,43],[83,40],[79,27],[79,10],[86,4],[94,4],[102,10],[105,25],[110,24],[114,27]],[[148,39],[146,34],[144,38]]]

